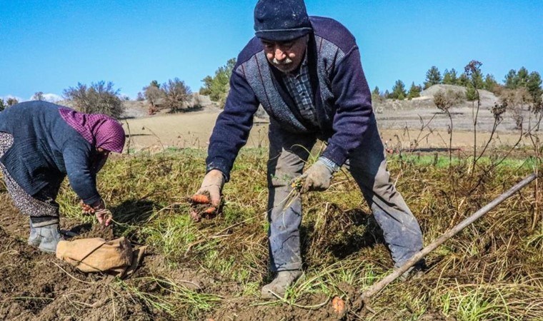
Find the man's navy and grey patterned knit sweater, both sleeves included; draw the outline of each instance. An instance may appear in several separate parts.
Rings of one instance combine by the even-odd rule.
[[[319,126],[312,126],[297,111],[280,71],[267,61],[256,37],[241,51],[230,78],[224,111],[216,120],[209,141],[206,170],[218,169],[229,179],[239,149],[245,145],[259,104],[270,126],[292,133],[314,133],[328,142],[322,156],[342,165],[349,152],[361,145],[374,121],[371,93],[362,71],[354,36],[339,22],[310,17],[307,58],[313,101]]]

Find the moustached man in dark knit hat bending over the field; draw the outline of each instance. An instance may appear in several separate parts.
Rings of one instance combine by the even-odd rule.
[[[302,203],[285,202],[317,139],[327,148],[303,174],[302,192],[326,190],[346,165],[369,203],[399,266],[422,248],[422,233],[389,181],[358,46],[339,22],[307,16],[303,0],[261,0],[255,37],[241,51],[224,111],[216,121],[197,193],[214,205],[261,104],[269,114],[268,219],[270,268],[277,277],[264,298],[284,295],[301,275]],[[288,207],[287,207],[288,205]]]

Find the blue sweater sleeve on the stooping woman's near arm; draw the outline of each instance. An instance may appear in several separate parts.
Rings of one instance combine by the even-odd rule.
[[[91,151],[86,146],[67,143],[62,150],[71,188],[86,204],[101,199],[96,190],[96,175],[91,170]]]

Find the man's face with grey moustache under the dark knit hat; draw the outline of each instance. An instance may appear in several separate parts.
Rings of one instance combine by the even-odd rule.
[[[261,39],[269,63],[284,73],[294,71],[304,59],[309,36],[292,41],[269,41]]]

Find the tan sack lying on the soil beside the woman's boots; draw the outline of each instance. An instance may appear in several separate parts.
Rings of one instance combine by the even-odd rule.
[[[118,272],[124,275],[132,265],[132,257],[132,246],[124,237],[110,241],[103,238],[61,240],[56,247],[56,258],[71,263],[82,272]]]

